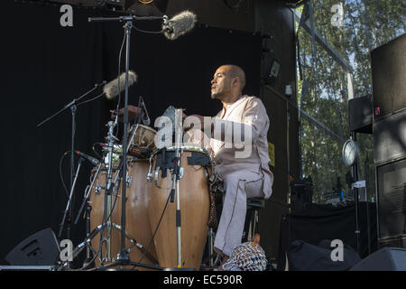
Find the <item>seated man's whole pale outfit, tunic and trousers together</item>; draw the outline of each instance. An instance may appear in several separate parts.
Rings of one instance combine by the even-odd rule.
[[[269,169],[269,117],[260,98],[243,96],[214,117],[215,133],[211,149],[217,172],[224,180],[226,195],[218,224],[214,247],[230,256],[241,243],[244,231],[246,199],[272,195],[273,174]],[[224,126],[224,139],[219,128]],[[235,127],[245,130],[244,147]],[[233,133],[234,131],[234,133]],[[245,154],[242,154],[245,152]]]

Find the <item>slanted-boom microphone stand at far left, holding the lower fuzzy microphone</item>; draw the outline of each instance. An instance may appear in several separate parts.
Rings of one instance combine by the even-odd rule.
[[[37,125],[37,128],[41,127],[42,125],[44,125],[45,123],[47,123],[48,121],[50,121],[52,118],[57,117],[60,115],[60,113],[62,113],[65,109],[70,108],[71,114],[72,114],[72,131],[71,131],[71,144],[70,144],[70,150],[71,152],[73,152],[74,146],[75,146],[75,131],[76,131],[76,112],[78,109],[78,101],[82,98],[85,98],[86,96],[88,96],[88,94],[90,94],[91,92],[93,92],[94,90],[98,89],[100,86],[106,84],[106,81],[103,81],[102,83],[97,83],[95,85],[95,87],[93,89],[88,90],[87,92],[85,92],[83,95],[81,95],[79,98],[74,98],[72,101],[69,102],[69,104],[67,104],[65,107],[62,107],[58,112],[56,112],[55,114],[53,114],[51,117],[46,118],[45,120],[43,120],[40,124]],[[73,189],[73,178],[74,178],[74,167],[75,167],[75,159],[74,159],[74,155],[73,153],[70,154],[70,191],[72,191]],[[72,220],[72,207],[70,204],[70,199],[68,202],[69,205],[69,217],[68,217],[68,221],[67,221],[67,238],[70,239],[70,225],[71,225],[71,220]],[[66,213],[66,211],[65,211]],[[63,221],[62,221],[62,227],[63,227],[63,223],[65,221],[65,217],[63,217]],[[61,228],[62,228],[61,227]],[[58,238],[61,238],[61,229],[60,229],[60,234],[58,236]]]

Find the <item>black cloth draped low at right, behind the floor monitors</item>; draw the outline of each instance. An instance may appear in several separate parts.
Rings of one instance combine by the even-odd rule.
[[[378,249],[376,203],[359,202],[358,226],[358,255],[364,258]],[[318,246],[322,240],[340,239],[345,246],[356,250],[355,206],[311,204],[307,210],[286,213],[281,219],[280,236],[280,270],[285,267],[285,253],[296,240]]]

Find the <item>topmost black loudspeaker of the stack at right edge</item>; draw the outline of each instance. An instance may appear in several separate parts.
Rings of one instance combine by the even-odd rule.
[[[406,35],[371,51],[375,120],[406,107]]]

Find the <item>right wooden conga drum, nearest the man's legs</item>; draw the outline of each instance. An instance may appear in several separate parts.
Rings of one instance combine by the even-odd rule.
[[[176,197],[169,201],[176,149],[152,154],[152,187],[148,215],[156,254],[162,267],[178,266]],[[182,147],[180,157],[181,266],[199,269],[208,232],[209,193],[206,165],[210,158],[198,147]],[[163,217],[161,219],[161,215]],[[160,220],[161,219],[161,220]]]

